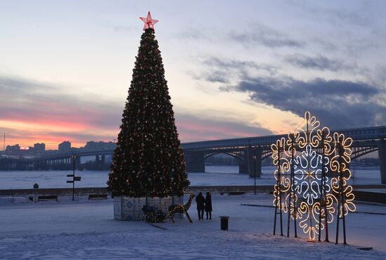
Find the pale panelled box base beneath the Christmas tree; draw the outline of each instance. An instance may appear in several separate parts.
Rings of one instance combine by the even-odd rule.
[[[168,214],[170,206],[183,204],[183,197],[114,197],[114,219],[124,221],[145,221],[142,207],[147,205]],[[182,214],[175,214],[182,219]]]

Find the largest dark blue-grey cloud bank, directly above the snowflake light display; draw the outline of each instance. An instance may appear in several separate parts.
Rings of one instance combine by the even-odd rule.
[[[272,105],[300,117],[309,110],[332,128],[386,124],[386,104],[378,97],[382,89],[364,82],[291,77],[246,78],[223,91],[249,93],[251,100]]]

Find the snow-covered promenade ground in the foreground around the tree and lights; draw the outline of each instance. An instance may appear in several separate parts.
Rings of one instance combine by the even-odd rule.
[[[274,209],[241,203],[270,205],[272,197],[213,195],[211,221],[198,221],[193,203],[189,214],[194,223],[178,219],[157,224],[166,230],[145,222],[114,221],[111,200],[1,204],[0,258],[386,259],[385,215],[349,214],[345,246],[273,236]],[[386,207],[368,204],[359,204],[358,210],[386,213]],[[221,215],[229,216],[229,231],[220,230]],[[333,240],[335,228],[330,230]]]

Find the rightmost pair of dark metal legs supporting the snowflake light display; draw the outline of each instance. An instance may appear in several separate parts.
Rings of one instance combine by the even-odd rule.
[[[342,219],[342,228],[343,228],[343,244],[347,245],[346,242],[346,218],[345,218],[345,187],[343,187],[343,166],[345,165],[342,162],[343,149],[341,143],[339,145],[339,193],[338,193],[338,207],[336,210],[337,214],[337,223],[336,223],[336,240],[335,245],[338,244],[339,240],[339,222]],[[342,215],[340,217],[340,215]]]

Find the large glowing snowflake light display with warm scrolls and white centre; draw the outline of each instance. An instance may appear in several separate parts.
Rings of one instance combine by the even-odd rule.
[[[294,133],[281,138],[271,145],[272,160],[277,166],[274,176],[274,234],[277,214],[280,214],[281,235],[283,235],[282,213],[288,216],[287,236],[289,236],[290,217],[293,220],[295,236],[297,223],[310,240],[328,224],[344,219],[348,212],[354,212],[352,186],[347,185],[351,178],[348,169],[352,138],[343,134],[330,133],[327,127],[321,128],[316,117],[310,112]],[[279,212],[277,212],[279,210]],[[344,243],[345,221],[343,221]],[[336,242],[338,242],[338,230]]]

